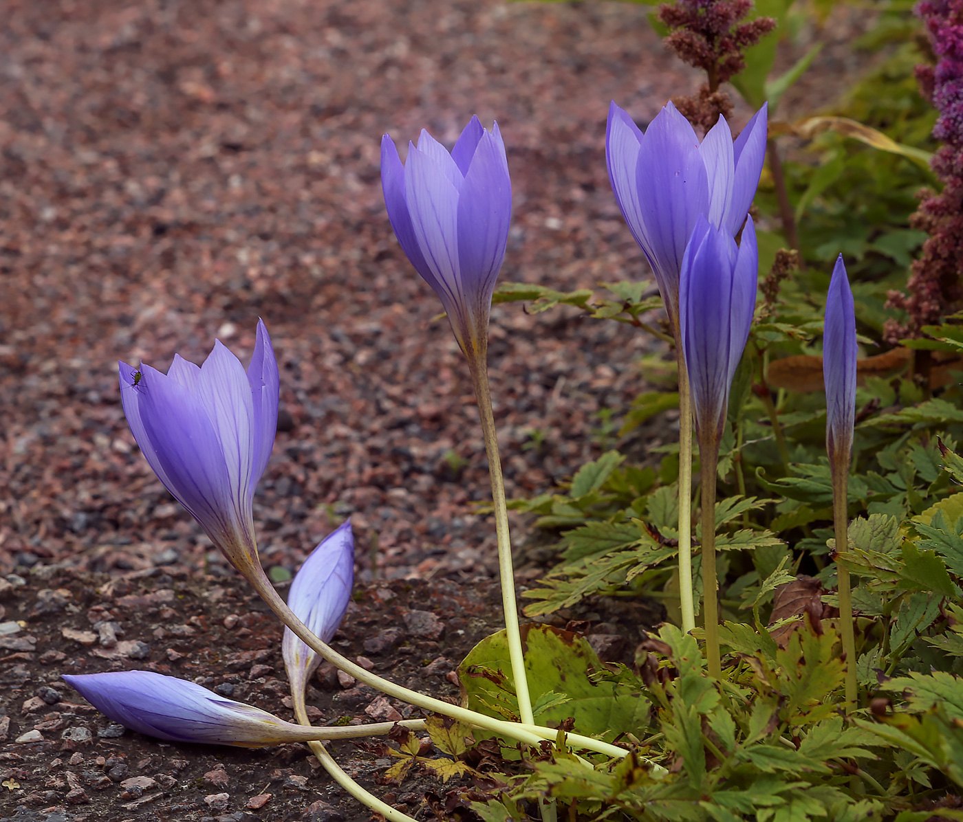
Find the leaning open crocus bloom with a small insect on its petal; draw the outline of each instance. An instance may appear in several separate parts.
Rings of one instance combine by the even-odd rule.
[[[264,322],[247,372],[219,341],[199,368],[177,354],[167,374],[118,366],[124,414],[150,467],[246,573],[257,563],[254,489],[277,430],[277,363]]]

